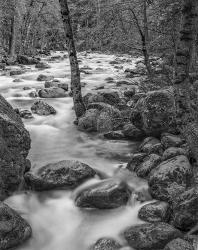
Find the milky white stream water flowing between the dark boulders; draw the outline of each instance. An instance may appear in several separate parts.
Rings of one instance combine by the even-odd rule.
[[[105,78],[122,79],[122,72],[109,64],[113,55],[80,54],[81,66],[92,68],[92,74],[82,74],[84,94],[96,86],[114,88],[112,83],[105,83]],[[29,92],[43,87],[44,82],[36,81],[39,74],[53,75],[62,82],[69,83],[70,68],[68,59],[51,62],[51,68],[38,71],[33,66],[23,75],[15,76],[23,82],[13,82],[13,78],[1,76],[0,90],[3,96],[15,108],[30,109],[35,101]],[[127,65],[124,65],[127,66]],[[31,87],[31,90],[23,90]],[[119,171],[118,166],[125,163],[138,146],[137,142],[104,140],[94,134],[77,130],[72,110],[72,98],[45,99],[57,114],[37,116],[24,120],[30,132],[32,147],[29,159],[33,170],[46,163],[64,159],[76,159],[89,164],[106,174],[109,178],[124,179],[135,190],[147,189],[147,184],[127,172]],[[98,182],[93,179],[84,186]],[[142,204],[134,197],[128,205],[114,210],[82,210],[75,206],[74,196],[77,190],[52,191],[43,193],[26,192],[7,199],[7,204],[20,212],[31,224],[32,239],[21,250],[87,250],[100,237],[114,237],[123,243],[122,232],[128,226],[142,223],[137,213]]]

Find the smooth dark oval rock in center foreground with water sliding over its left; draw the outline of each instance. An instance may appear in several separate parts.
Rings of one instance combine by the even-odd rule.
[[[79,193],[76,205],[83,208],[118,208],[128,202],[130,195],[131,192],[125,183],[107,180]]]

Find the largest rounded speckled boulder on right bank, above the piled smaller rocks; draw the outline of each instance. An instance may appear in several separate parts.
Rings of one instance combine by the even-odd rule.
[[[175,98],[171,90],[148,92],[140,98],[131,114],[132,123],[147,135],[158,136],[174,127]]]

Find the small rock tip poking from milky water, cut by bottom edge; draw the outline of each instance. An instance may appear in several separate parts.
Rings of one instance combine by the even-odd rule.
[[[102,238],[99,239],[94,246],[91,248],[92,250],[118,250],[121,248],[121,245],[110,238]]]

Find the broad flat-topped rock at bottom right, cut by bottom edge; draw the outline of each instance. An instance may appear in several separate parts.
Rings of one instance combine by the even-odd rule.
[[[133,226],[124,232],[128,244],[136,250],[163,249],[168,242],[181,236],[179,230],[163,222]]]

